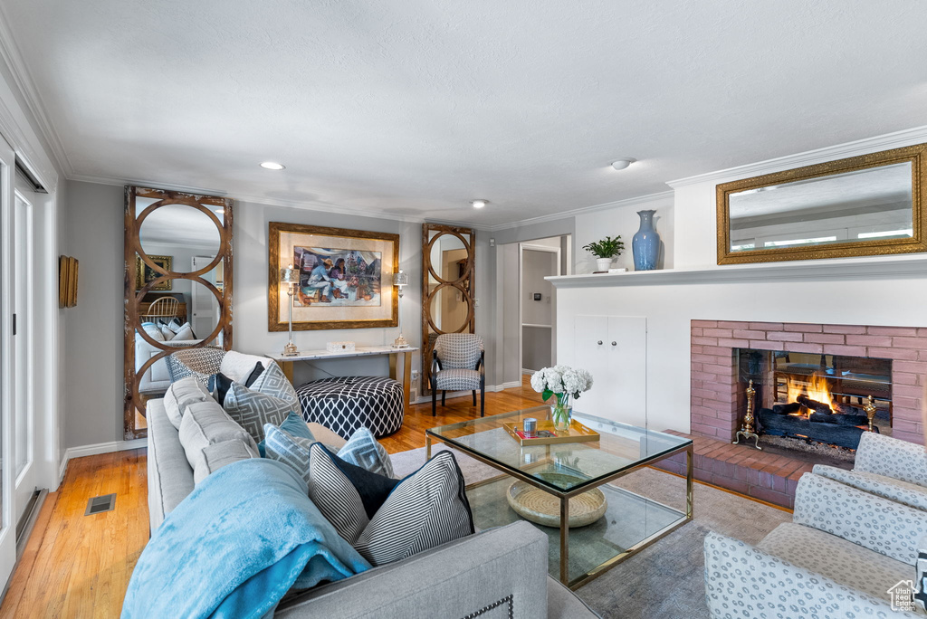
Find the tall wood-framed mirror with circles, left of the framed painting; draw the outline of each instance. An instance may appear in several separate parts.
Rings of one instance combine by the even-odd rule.
[[[232,207],[225,197],[125,188],[127,440],[147,436],[146,403],[171,385],[171,354],[232,347]]]

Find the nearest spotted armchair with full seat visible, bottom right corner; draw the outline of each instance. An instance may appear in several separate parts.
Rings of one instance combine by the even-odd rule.
[[[714,619],[916,617],[911,604],[927,513],[816,474],[802,475],[793,522],[756,545],[705,537],[705,600]],[[897,608],[897,606],[896,606]]]

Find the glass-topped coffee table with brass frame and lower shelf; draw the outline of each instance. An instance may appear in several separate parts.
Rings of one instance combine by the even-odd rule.
[[[534,489],[540,489],[546,494],[540,494],[535,506],[541,505],[540,510],[546,508],[547,512],[540,514],[540,519],[539,514],[530,510],[524,513],[535,523],[552,518],[552,522],[539,526],[551,537],[550,573],[559,576],[567,587],[578,588],[692,520],[691,439],[578,414],[574,419],[598,432],[600,440],[522,447],[502,427],[502,423],[520,424],[528,417],[547,419],[549,411],[549,406],[539,406],[425,431],[427,458],[431,458],[432,442],[438,440],[502,472],[466,488],[477,528],[521,519],[513,509],[518,507],[524,512],[524,506],[517,500],[519,493],[529,488],[533,491],[532,498],[539,499],[540,493]],[[652,475],[646,478],[638,475],[640,479],[632,475],[618,481],[679,453],[686,454],[684,489],[682,480],[671,474],[661,475],[655,484]],[[676,489],[670,486],[677,481],[678,494],[684,494],[684,500],[681,496],[667,500]],[[661,500],[643,496],[654,494]],[[579,515],[585,515],[590,504],[593,505],[598,509],[592,513],[595,517],[602,511],[603,498],[603,515],[595,522],[565,525],[571,522],[571,502],[574,512],[584,512]],[[667,502],[676,502],[677,506],[671,507]],[[559,510],[550,513],[552,505]]]

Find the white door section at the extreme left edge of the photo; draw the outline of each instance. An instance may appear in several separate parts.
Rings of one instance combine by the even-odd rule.
[[[0,138],[0,583],[5,584],[16,564],[16,520],[14,506],[16,458],[13,418],[17,408],[19,377],[16,314],[16,258],[13,242],[16,219],[13,150]],[[19,331],[17,331],[19,333]]]

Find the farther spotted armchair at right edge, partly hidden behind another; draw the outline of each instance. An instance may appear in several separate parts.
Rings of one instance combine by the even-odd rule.
[[[927,512],[927,450],[864,432],[852,471],[815,464],[814,473]]]

